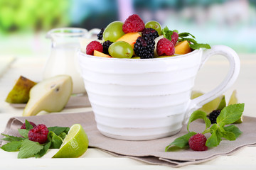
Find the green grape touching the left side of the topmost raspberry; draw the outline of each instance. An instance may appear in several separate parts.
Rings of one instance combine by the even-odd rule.
[[[110,23],[103,32],[103,39],[115,42],[118,38],[122,37],[124,35],[122,25],[123,23],[120,21]]]

